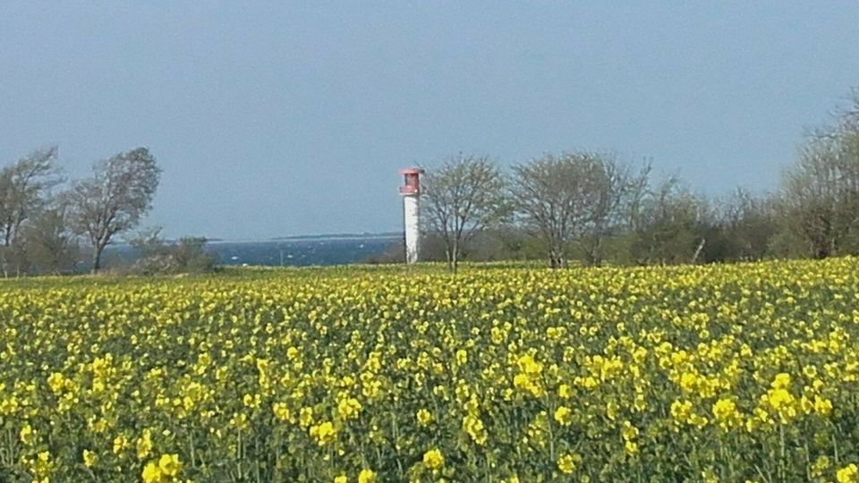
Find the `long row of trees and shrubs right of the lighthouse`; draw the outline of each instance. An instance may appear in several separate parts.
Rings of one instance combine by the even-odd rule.
[[[610,153],[548,154],[503,171],[460,155],[429,166],[421,258],[543,258],[549,267],[859,254],[859,90],[800,149],[778,189],[722,198]]]

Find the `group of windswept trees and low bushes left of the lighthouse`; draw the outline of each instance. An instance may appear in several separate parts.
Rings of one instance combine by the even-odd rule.
[[[76,273],[102,267],[106,246],[149,212],[161,169],[147,148],[98,161],[88,178],[68,181],[56,147],[39,148],[0,169],[0,271],[5,277]],[[132,236],[140,257],[125,271],[209,270],[204,239],[168,243],[152,230]],[[87,257],[89,254],[89,257]]]

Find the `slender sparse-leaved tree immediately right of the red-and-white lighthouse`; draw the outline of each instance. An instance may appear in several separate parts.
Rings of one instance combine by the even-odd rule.
[[[457,156],[423,179],[429,229],[445,243],[447,267],[456,272],[465,243],[506,216],[506,182],[489,157]]]

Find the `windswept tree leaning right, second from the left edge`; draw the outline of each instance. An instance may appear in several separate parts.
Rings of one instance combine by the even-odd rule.
[[[149,149],[136,148],[98,162],[91,178],[73,184],[70,223],[90,243],[93,273],[114,235],[136,226],[152,207],[160,175]]]

